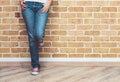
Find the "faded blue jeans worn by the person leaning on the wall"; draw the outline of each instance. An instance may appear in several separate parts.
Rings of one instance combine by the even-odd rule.
[[[48,12],[40,12],[43,4],[39,2],[25,2],[27,8],[22,10],[26,24],[33,68],[40,68],[38,41],[44,38]]]

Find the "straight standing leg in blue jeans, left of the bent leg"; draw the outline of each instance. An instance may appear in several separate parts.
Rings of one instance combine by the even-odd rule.
[[[22,12],[23,18],[26,23],[28,39],[29,39],[29,47],[31,54],[31,64],[33,68],[40,68],[39,64],[39,54],[38,54],[38,43],[35,39],[34,29],[35,29],[35,12],[30,8],[26,8]]]

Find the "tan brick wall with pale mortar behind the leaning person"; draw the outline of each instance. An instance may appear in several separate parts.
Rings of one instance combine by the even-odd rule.
[[[53,1],[40,57],[120,57],[120,1]],[[29,58],[19,0],[0,0],[0,57]]]

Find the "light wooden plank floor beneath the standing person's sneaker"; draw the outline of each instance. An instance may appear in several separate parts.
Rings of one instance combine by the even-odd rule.
[[[29,66],[0,67],[0,82],[120,82],[120,67],[44,66],[37,76]]]

